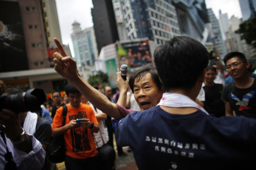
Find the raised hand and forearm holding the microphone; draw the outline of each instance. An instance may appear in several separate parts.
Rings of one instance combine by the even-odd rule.
[[[127,97],[127,91],[129,89],[129,78],[123,80],[121,72],[119,69],[117,69],[117,87],[120,90],[120,95],[117,101],[117,104],[119,104],[122,107],[126,107],[126,97]]]

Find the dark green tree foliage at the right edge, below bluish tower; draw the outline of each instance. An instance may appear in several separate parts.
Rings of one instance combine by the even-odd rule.
[[[235,33],[240,34],[241,39],[245,39],[247,44],[252,44],[256,48],[256,15],[241,23]]]

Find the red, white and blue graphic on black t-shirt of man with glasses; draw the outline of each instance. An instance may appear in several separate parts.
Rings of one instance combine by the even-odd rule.
[[[231,92],[231,97],[234,100],[237,100],[238,102],[235,105],[239,105],[239,111],[241,110],[249,110],[250,107],[248,107],[249,100],[254,97],[255,91],[250,91],[249,93],[245,94],[240,100],[237,96],[233,95]]]

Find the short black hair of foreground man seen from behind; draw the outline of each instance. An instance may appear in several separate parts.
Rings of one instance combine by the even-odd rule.
[[[164,90],[189,90],[207,67],[209,53],[197,40],[177,36],[157,47],[154,60]]]

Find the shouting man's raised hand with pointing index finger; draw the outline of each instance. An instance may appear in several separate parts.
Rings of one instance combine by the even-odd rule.
[[[77,63],[70,56],[67,56],[63,46],[57,38],[54,38],[55,44],[58,46],[59,53],[54,53],[54,70],[67,80],[80,77],[77,71]]]

